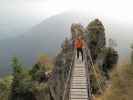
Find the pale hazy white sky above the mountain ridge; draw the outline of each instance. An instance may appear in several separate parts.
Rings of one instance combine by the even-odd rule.
[[[133,25],[132,4],[132,0],[0,0],[0,34],[5,37],[26,30],[67,10],[85,11]]]

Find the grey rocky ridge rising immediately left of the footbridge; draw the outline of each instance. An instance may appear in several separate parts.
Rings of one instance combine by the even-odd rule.
[[[57,55],[52,76],[48,81],[53,100],[62,100],[65,82],[74,56],[69,41],[65,40],[62,51]]]

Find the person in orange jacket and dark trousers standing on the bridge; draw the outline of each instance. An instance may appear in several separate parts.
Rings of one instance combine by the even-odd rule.
[[[82,61],[83,61],[83,59],[84,59],[84,57],[83,57],[84,40],[83,40],[82,36],[78,36],[75,39],[75,48],[77,49],[77,58],[79,59],[79,53],[81,53]]]

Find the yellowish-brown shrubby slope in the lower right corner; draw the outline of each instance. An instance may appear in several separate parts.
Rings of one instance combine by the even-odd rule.
[[[112,85],[103,96],[103,100],[132,100],[133,98],[133,66],[125,64],[115,70]]]

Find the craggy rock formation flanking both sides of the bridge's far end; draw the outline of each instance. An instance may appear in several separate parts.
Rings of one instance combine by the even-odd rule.
[[[44,96],[43,100],[62,100],[65,82],[67,80],[70,65],[74,56],[73,43],[76,36],[82,35],[86,39],[87,45],[91,50],[93,61],[95,64],[98,63],[97,70],[100,80],[103,78],[103,66],[113,66],[114,62],[112,62],[110,58],[113,59],[114,57],[118,56],[112,56],[114,54],[112,54],[112,51],[108,52],[108,49],[106,48],[105,29],[103,24],[98,19],[95,19],[89,23],[86,28],[80,24],[72,24],[71,35],[71,39],[66,38],[64,40],[61,46],[62,49],[55,58],[54,69],[47,82],[45,82],[47,84],[46,91],[40,92]],[[113,50],[113,52],[115,51],[114,49],[111,50]],[[97,93],[99,88],[93,72],[90,77],[92,92]],[[105,80],[102,80],[102,84],[105,84],[104,81]],[[41,100],[39,97],[41,96],[38,96],[37,100]]]

